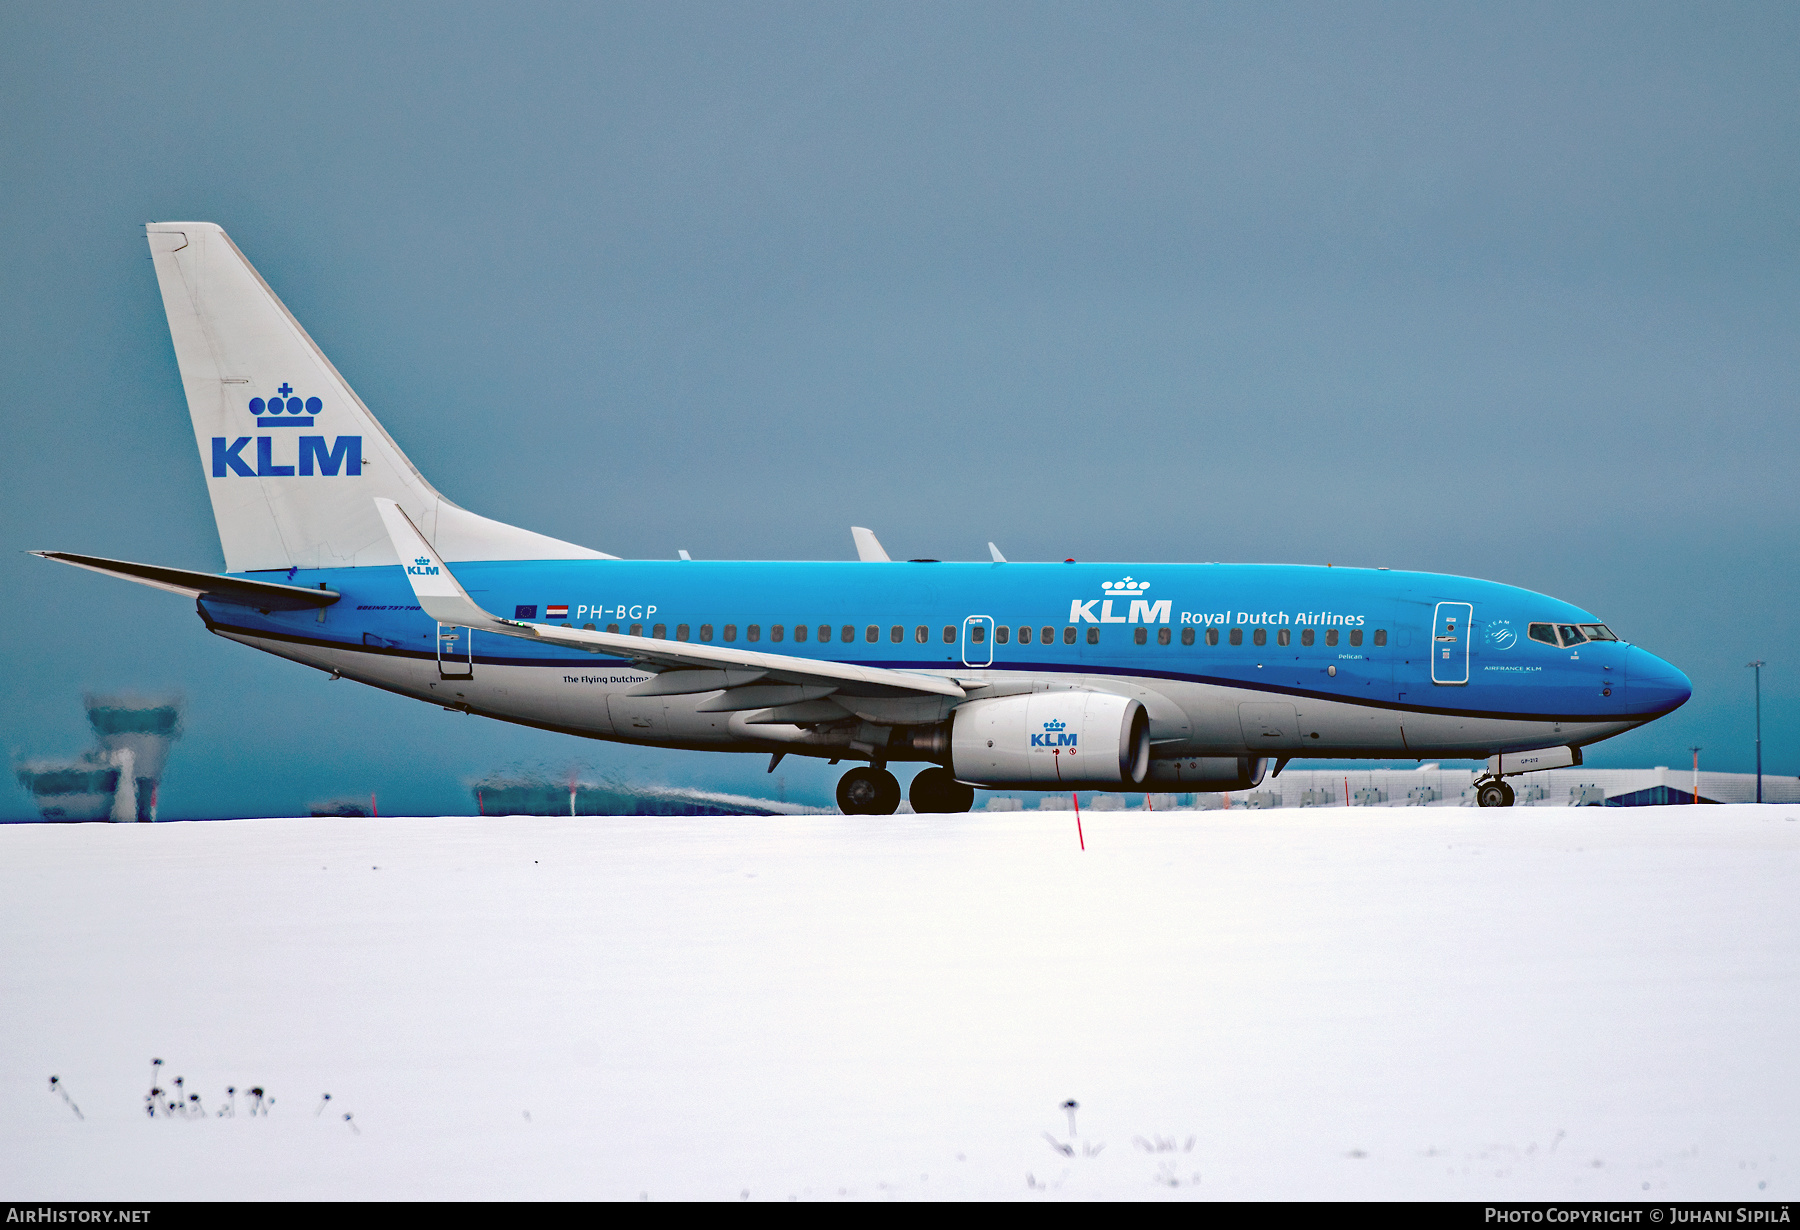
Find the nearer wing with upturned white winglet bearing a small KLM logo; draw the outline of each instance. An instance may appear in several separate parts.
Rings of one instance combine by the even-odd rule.
[[[693,641],[661,641],[650,636],[623,636],[619,632],[589,632],[544,623],[502,620],[482,610],[457,582],[412,519],[391,499],[376,499],[387,535],[400,553],[407,580],[419,607],[437,623],[481,629],[499,636],[517,636],[526,641],[544,641],[589,654],[628,657],[646,670],[702,670],[709,688],[731,688],[756,681],[824,684],[832,690],[860,695],[938,695],[961,701],[967,693],[954,679],[925,675],[911,670],[857,666],[851,663],[817,661],[788,654],[760,654],[734,645],[697,645]],[[686,688],[682,688],[686,692]],[[697,688],[698,690],[698,688]]]

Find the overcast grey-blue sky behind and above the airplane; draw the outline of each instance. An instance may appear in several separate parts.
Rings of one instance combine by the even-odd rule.
[[[1694,677],[1593,762],[1748,769],[1766,657],[1800,773],[1796,92],[1791,5],[0,5],[5,746],[175,686],[176,814],[760,776],[328,684],[20,555],[220,565],[139,229],[205,218],[481,513],[1469,573]]]

